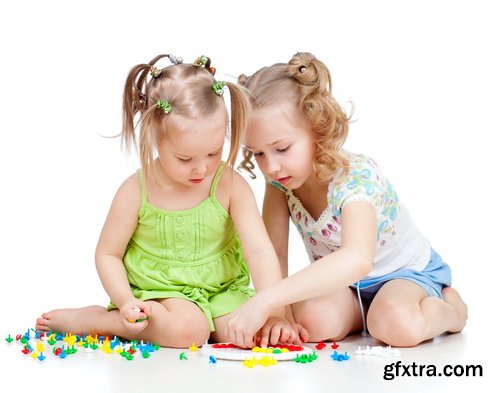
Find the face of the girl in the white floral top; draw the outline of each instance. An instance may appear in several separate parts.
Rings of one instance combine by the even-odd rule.
[[[307,124],[290,104],[259,109],[252,113],[246,147],[267,178],[289,189],[313,178],[315,144]]]

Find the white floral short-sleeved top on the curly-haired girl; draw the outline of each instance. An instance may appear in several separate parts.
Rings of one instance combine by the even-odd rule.
[[[380,277],[399,269],[421,271],[431,255],[424,238],[391,183],[371,158],[345,152],[350,169],[341,183],[336,176],[328,186],[328,206],[317,221],[304,209],[292,190],[280,183],[270,184],[283,191],[293,223],[297,227],[311,262],[335,252],[342,244],[342,208],[354,201],[370,203],[377,212],[377,249],[372,271],[364,278]]]

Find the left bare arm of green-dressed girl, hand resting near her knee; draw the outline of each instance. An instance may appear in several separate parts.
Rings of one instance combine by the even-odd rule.
[[[139,179],[137,175],[132,175],[123,182],[113,199],[95,252],[101,283],[112,302],[120,309],[124,321],[145,318],[150,312],[148,306],[137,301],[132,294],[123,265],[125,250],[137,226],[140,201]],[[136,307],[146,315],[133,314]]]

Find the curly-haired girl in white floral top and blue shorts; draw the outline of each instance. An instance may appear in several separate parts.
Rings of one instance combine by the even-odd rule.
[[[253,345],[269,310],[283,305],[291,305],[304,341],[364,330],[410,347],[461,331],[467,306],[450,287],[449,266],[375,161],[342,149],[349,118],[331,94],[326,66],[297,53],[240,83],[253,106],[242,167],[252,173],[255,158],[266,177],[263,216],[283,275],[290,218],[314,263],[238,309],[229,337]]]

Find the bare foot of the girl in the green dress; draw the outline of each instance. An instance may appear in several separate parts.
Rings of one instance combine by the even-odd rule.
[[[35,328],[73,334],[99,333],[95,331],[95,320],[102,318],[107,312],[101,306],[61,308],[43,313],[37,318]]]

